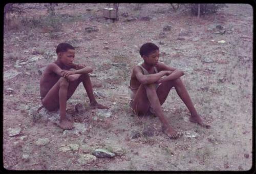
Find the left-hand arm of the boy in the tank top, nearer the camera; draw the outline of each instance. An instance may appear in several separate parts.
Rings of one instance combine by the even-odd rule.
[[[133,69],[133,73],[140,83],[151,84],[151,83],[155,83],[156,81],[158,81],[162,76],[169,75],[171,72],[170,71],[161,71],[156,74],[144,75],[142,73],[141,68],[139,66],[136,66]]]

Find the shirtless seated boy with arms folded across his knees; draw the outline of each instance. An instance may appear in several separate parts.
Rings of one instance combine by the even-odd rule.
[[[74,64],[75,49],[70,44],[60,43],[56,49],[57,60],[50,63],[40,79],[42,105],[48,111],[59,108],[59,126],[72,129],[73,121],[66,117],[67,100],[73,95],[80,82],[83,83],[90,105],[94,108],[108,108],[97,103],[92,89],[89,73],[93,70],[80,64]],[[74,71],[69,71],[75,69]]]

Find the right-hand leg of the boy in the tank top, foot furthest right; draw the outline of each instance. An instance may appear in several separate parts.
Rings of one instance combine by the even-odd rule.
[[[203,122],[203,120],[201,119],[201,117],[198,115],[196,108],[194,107],[194,104],[191,101],[191,99],[188,95],[188,92],[180,78],[178,78],[176,80],[165,81],[159,86],[159,88],[157,89],[157,94],[159,96],[161,105],[166,100],[167,95],[173,86],[175,86],[175,90],[176,90],[177,94],[179,95],[181,100],[185,103],[185,105],[187,106],[187,108],[191,114],[189,120],[191,122],[198,123],[206,128],[209,128],[210,125],[205,124]]]

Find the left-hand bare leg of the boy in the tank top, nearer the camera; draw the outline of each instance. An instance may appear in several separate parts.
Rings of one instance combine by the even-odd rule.
[[[163,132],[170,138],[176,138],[178,136],[178,133],[169,125],[168,120],[165,118],[163,114],[161,104],[156,92],[155,84],[141,84],[134,98],[134,102],[132,105],[133,110],[138,115],[143,115],[147,113],[150,106],[153,107],[153,110],[159,117],[164,128]]]

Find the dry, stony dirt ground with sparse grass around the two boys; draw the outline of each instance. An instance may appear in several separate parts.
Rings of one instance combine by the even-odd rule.
[[[216,14],[197,20],[189,12],[175,12],[169,4],[142,4],[139,8],[120,4],[120,17],[114,23],[102,17],[108,4],[58,4],[54,17],[49,17],[44,4],[20,7],[26,13],[13,18],[4,31],[6,169],[251,168],[250,5],[227,4]],[[56,59],[56,46],[65,41],[75,47],[75,62],[93,67],[96,99],[111,108],[89,108],[87,94],[79,85],[67,102],[76,127],[63,131],[54,124],[57,112],[34,111],[41,105],[40,74]],[[137,117],[131,112],[127,85],[132,67],[142,60],[139,48],[148,41],[160,47],[161,61],[185,72],[182,80],[210,129],[188,121],[189,112],[174,89],[162,108],[183,133],[180,138],[168,139],[157,117]],[[108,149],[116,156],[86,156],[96,148]]]

